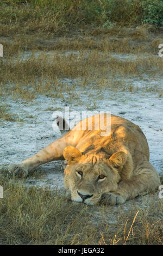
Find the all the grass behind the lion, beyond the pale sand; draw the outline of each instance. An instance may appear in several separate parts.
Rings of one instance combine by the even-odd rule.
[[[123,0],[121,5],[116,1],[119,15],[109,1],[97,1],[97,6],[91,2],[89,6],[80,0],[60,4],[52,0],[54,8],[47,1],[1,4],[4,58],[0,95],[31,101],[37,94],[55,97],[76,87],[89,88],[90,84],[92,89],[134,92],[138,88],[124,79],[160,78],[163,59],[157,55],[162,33],[151,24],[141,24],[141,1],[130,4]],[[108,3],[111,25],[107,25]],[[130,56],[121,59],[112,54]],[[65,86],[63,78],[75,80],[73,88]],[[160,87],[143,90],[162,96]]]

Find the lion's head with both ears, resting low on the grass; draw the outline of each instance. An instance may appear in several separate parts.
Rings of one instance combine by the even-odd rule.
[[[85,154],[74,147],[64,150],[67,160],[65,187],[71,192],[71,200],[95,205],[102,195],[116,191],[120,181],[120,171],[127,160],[126,153],[120,151],[111,157],[102,154]]]

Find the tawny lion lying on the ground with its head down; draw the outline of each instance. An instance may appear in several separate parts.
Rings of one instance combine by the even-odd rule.
[[[109,131],[105,136],[104,125],[95,129],[102,115]],[[112,114],[98,114],[80,121],[36,155],[9,164],[8,170],[27,175],[37,166],[54,160],[67,161],[66,197],[75,202],[95,205],[102,200],[108,205],[124,204],[128,199],[157,190],[160,185],[159,174],[149,163],[149,147],[140,127]]]

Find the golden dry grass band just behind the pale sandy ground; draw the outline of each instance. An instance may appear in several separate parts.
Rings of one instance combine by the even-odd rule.
[[[0,94],[12,95],[14,100],[18,96],[31,101],[37,94],[53,97],[65,90],[71,94],[76,87],[85,89],[89,84],[93,84],[94,89],[103,87],[133,92],[133,86],[124,82],[124,79],[141,79],[143,75],[155,77],[162,70],[163,59],[148,54],[146,57],[133,56],[132,59],[129,56],[121,59],[111,56],[110,52],[98,50],[19,53],[17,58],[3,59]],[[62,82],[64,78],[75,81],[70,86]],[[147,90],[153,88],[148,87]],[[161,95],[160,88],[155,87],[154,90]]]

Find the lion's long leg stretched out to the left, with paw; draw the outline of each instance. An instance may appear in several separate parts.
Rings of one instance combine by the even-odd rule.
[[[10,173],[15,173],[18,176],[27,176],[29,170],[33,170],[43,163],[64,159],[62,156],[63,150],[68,145],[71,145],[71,142],[68,138],[68,134],[66,134],[62,138],[43,148],[39,153],[30,157],[29,159],[18,164],[9,164],[8,170]]]

